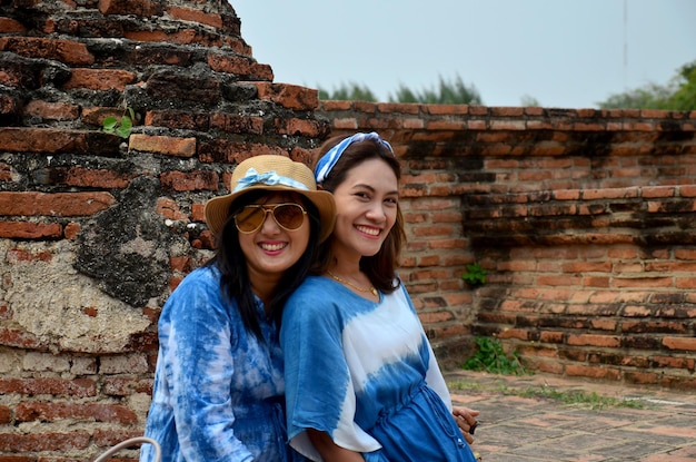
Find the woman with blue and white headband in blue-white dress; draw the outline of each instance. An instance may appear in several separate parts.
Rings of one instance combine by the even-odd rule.
[[[474,462],[467,432],[477,412],[453,409],[396,275],[405,234],[391,146],[357,134],[319,155],[315,176],[337,216],[317,275],[282,318],[291,445],[314,461]]]

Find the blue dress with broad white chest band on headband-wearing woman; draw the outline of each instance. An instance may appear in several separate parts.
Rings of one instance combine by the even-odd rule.
[[[280,343],[288,436],[311,460],[321,458],[307,429],[368,462],[476,460],[402,285],[376,303],[308,277],[286,304]]]

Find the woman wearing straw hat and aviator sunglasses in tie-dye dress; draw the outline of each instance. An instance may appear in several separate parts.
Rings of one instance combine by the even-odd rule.
[[[217,250],[171,294],[146,436],[168,461],[297,461],[286,444],[284,304],[334,227],[330,193],[304,164],[256,156],[206,204]],[[150,445],[141,461],[152,461]]]

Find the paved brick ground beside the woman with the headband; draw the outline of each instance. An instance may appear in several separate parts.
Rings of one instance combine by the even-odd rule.
[[[445,375],[454,402],[481,412],[471,446],[481,462],[696,461],[696,391],[544,374]]]

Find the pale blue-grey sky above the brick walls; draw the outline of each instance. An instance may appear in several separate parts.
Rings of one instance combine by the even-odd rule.
[[[275,81],[386,101],[460,77],[487,106],[591,108],[696,60],[696,0],[230,0]],[[626,14],[625,14],[626,12]]]

